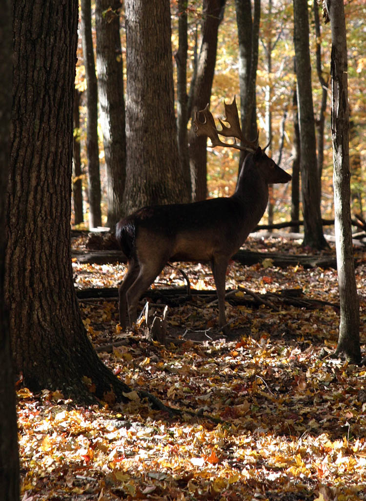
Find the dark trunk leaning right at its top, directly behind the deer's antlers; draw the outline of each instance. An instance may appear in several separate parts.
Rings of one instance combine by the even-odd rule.
[[[202,42],[192,92],[192,120],[194,120],[195,112],[202,110],[210,101],[216,62],[217,31],[224,5],[225,0],[203,0]],[[192,199],[195,201],[204,200],[207,196],[207,138],[205,136],[196,136],[190,130],[188,142]]]

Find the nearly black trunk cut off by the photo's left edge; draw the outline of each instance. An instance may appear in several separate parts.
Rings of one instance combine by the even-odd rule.
[[[5,305],[5,198],[9,170],[12,40],[10,0],[2,3],[0,19],[0,499],[19,499],[19,459],[14,376],[10,354],[9,318]]]

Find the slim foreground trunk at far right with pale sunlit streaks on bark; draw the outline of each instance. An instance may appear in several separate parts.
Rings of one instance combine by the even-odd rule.
[[[331,135],[334,232],[340,300],[337,355],[359,362],[359,304],[354,276],[348,150],[347,42],[343,0],[326,2],[331,26]]]

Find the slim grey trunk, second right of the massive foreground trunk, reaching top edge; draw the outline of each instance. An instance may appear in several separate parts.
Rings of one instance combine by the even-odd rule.
[[[81,0],[81,39],[86,77],[86,153],[89,174],[89,227],[101,226],[98,151],[98,90],[91,38],[90,0]]]

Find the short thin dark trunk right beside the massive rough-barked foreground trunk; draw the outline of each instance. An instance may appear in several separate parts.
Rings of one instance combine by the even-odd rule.
[[[72,198],[74,224],[84,220],[82,213],[82,178],[80,160],[80,97],[81,93],[75,89],[73,103],[73,149],[72,149]]]

